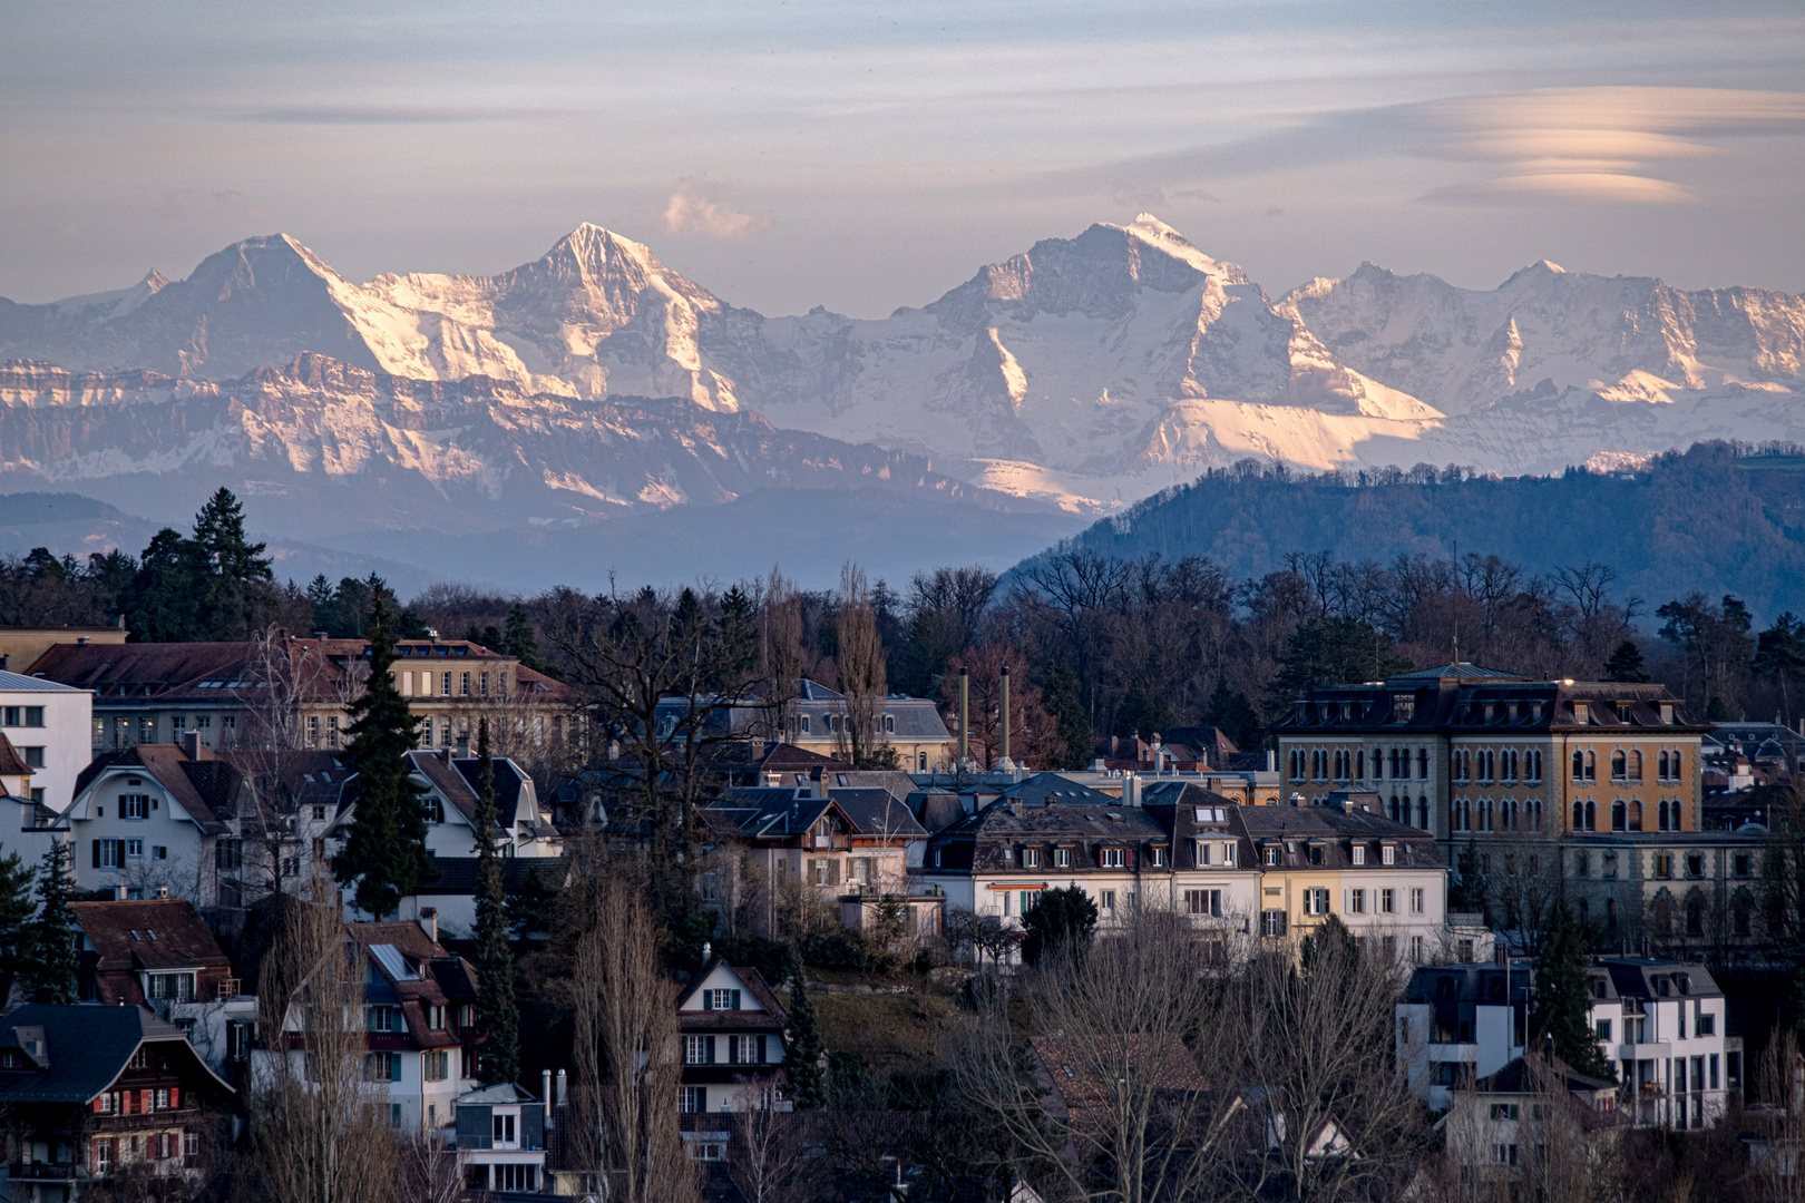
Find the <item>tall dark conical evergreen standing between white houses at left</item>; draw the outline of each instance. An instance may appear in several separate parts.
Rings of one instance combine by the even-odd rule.
[[[403,895],[439,875],[426,853],[426,804],[410,777],[408,752],[419,720],[408,712],[408,700],[388,671],[395,662],[395,640],[388,629],[386,590],[372,593],[370,682],[350,705],[350,743],[345,747],[356,774],[350,781],[356,812],[345,846],[332,857],[332,873],[339,884],[357,884],[357,909],[384,916],[401,905]]]

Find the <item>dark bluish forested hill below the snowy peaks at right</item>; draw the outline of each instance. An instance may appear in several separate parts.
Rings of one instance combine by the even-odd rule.
[[[1282,568],[1289,552],[1381,565],[1478,552],[1536,574],[1601,563],[1650,610],[1699,590],[1736,593],[1773,619],[1805,611],[1805,455],[1697,444],[1635,473],[1504,480],[1428,467],[1303,476],[1245,462],[1152,496],[1060,550],[1208,556],[1236,577]]]

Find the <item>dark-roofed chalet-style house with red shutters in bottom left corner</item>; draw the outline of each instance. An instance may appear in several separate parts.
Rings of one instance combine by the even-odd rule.
[[[25,1005],[0,1019],[13,1203],[72,1203],[110,1180],[208,1178],[233,1089],[143,1006]]]

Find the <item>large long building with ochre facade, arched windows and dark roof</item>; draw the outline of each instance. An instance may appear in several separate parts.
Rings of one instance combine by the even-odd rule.
[[[1296,799],[1370,790],[1444,851],[1469,839],[1697,831],[1708,730],[1664,685],[1532,682],[1475,664],[1325,685],[1274,723]]]

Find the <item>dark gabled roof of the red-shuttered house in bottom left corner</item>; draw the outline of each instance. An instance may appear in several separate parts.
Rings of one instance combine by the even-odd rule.
[[[31,1030],[36,1032],[31,1032]],[[175,1026],[143,1006],[49,1006],[27,1003],[0,1019],[0,1044],[22,1048],[20,1039],[43,1041],[42,1070],[0,1071],[0,1106],[92,1102],[112,1086],[141,1044],[170,1050],[190,1059],[222,1093],[233,1093],[206,1062],[195,1055]]]

